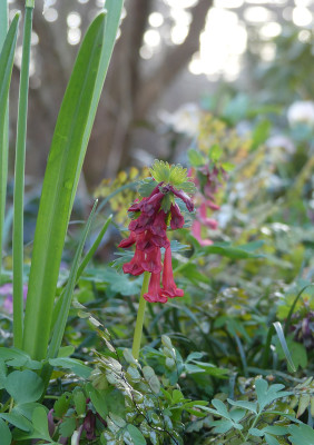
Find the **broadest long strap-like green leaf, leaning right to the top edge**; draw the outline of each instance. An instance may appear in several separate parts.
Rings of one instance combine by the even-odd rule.
[[[119,16],[121,0],[111,0],[109,3]],[[23,336],[24,350],[38,359],[45,358],[47,353],[67,226],[106,76],[104,68],[109,63],[116,39],[119,20],[116,27],[108,24],[112,11],[111,16],[108,14],[106,28],[105,13],[95,19],[81,44],[61,105],[45,175]],[[108,39],[105,46],[106,36]]]

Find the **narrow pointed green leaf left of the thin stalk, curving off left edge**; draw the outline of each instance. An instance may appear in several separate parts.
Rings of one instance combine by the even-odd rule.
[[[4,23],[4,21],[7,21],[7,14],[3,11],[3,7],[1,7],[0,12],[4,13],[4,20],[1,17],[0,24],[7,29],[7,23]],[[3,44],[0,42],[0,48],[2,47],[0,55],[0,275],[2,267],[3,224],[8,178],[8,97],[17,44],[19,17],[20,14],[17,13],[12,20]],[[1,39],[2,36],[3,31],[1,30]]]

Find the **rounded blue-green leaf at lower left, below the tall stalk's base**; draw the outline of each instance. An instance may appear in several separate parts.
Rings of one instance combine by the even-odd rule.
[[[42,379],[32,370],[13,370],[8,375],[6,389],[20,404],[37,402],[42,392]]]

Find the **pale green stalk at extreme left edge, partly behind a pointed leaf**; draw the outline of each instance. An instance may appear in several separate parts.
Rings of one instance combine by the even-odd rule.
[[[0,0],[0,51],[2,50],[3,42],[8,32],[8,1]],[[3,246],[3,224],[4,224],[4,210],[6,210],[6,197],[7,197],[7,177],[8,177],[8,150],[9,150],[9,103],[7,103],[7,111],[4,117],[4,126],[2,140],[1,158],[0,158],[0,172],[1,172],[1,184],[0,184],[0,277],[2,270],[2,246]]]

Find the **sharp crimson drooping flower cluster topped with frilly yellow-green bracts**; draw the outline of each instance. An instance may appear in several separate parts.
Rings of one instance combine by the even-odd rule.
[[[186,170],[180,166],[169,166],[167,162],[156,161],[156,181],[158,182],[148,196],[136,200],[128,209],[131,221],[128,226],[130,235],[118,247],[128,248],[135,244],[136,249],[133,259],[125,264],[125,274],[141,275],[144,271],[151,274],[148,291],[144,298],[150,303],[166,303],[168,298],[181,297],[184,291],[178,289],[174,281],[171,268],[170,241],[167,237],[167,226],[173,230],[184,226],[184,216],[175,197],[181,199],[188,211],[193,211],[194,204],[190,196],[183,189],[193,190],[193,184],[186,177]],[[151,190],[151,189],[150,189]],[[165,248],[165,263],[163,270],[161,251]],[[160,273],[163,271],[163,288],[160,288]]]

